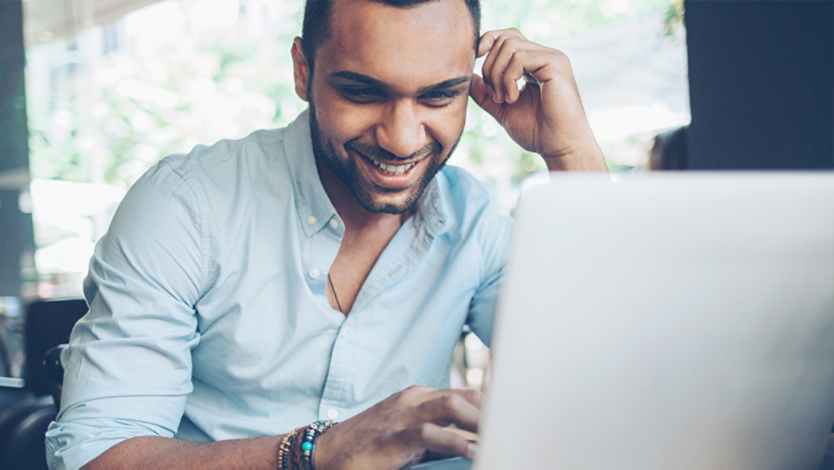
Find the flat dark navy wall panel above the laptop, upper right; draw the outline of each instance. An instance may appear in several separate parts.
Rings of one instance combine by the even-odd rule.
[[[685,6],[689,168],[834,168],[834,2]]]

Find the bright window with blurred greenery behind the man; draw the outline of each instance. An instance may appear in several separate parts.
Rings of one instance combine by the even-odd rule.
[[[161,157],[284,126],[306,104],[289,49],[301,0],[29,0],[27,100],[38,294],[80,295],[94,243]],[[483,30],[517,27],[571,58],[614,171],[644,167],[689,122],[679,0],[483,0]],[[470,103],[451,164],[511,212],[540,159]]]

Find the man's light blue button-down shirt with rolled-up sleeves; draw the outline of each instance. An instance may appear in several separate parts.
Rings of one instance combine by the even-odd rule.
[[[490,340],[513,223],[489,194],[461,169],[438,173],[345,317],[326,298],[344,226],[306,112],[163,159],[90,262],[50,468],[131,437],[275,435],[448,387],[463,325]]]

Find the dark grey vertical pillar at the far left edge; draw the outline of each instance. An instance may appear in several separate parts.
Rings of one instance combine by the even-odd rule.
[[[0,296],[19,296],[21,271],[32,276],[32,216],[20,204],[29,188],[19,183],[29,171],[24,66],[21,0],[0,0]]]

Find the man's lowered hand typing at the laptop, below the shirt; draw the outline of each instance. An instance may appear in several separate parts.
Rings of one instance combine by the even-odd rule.
[[[477,432],[482,399],[474,390],[409,387],[322,434],[316,468],[395,470],[428,452],[471,459],[475,444],[444,427]]]

